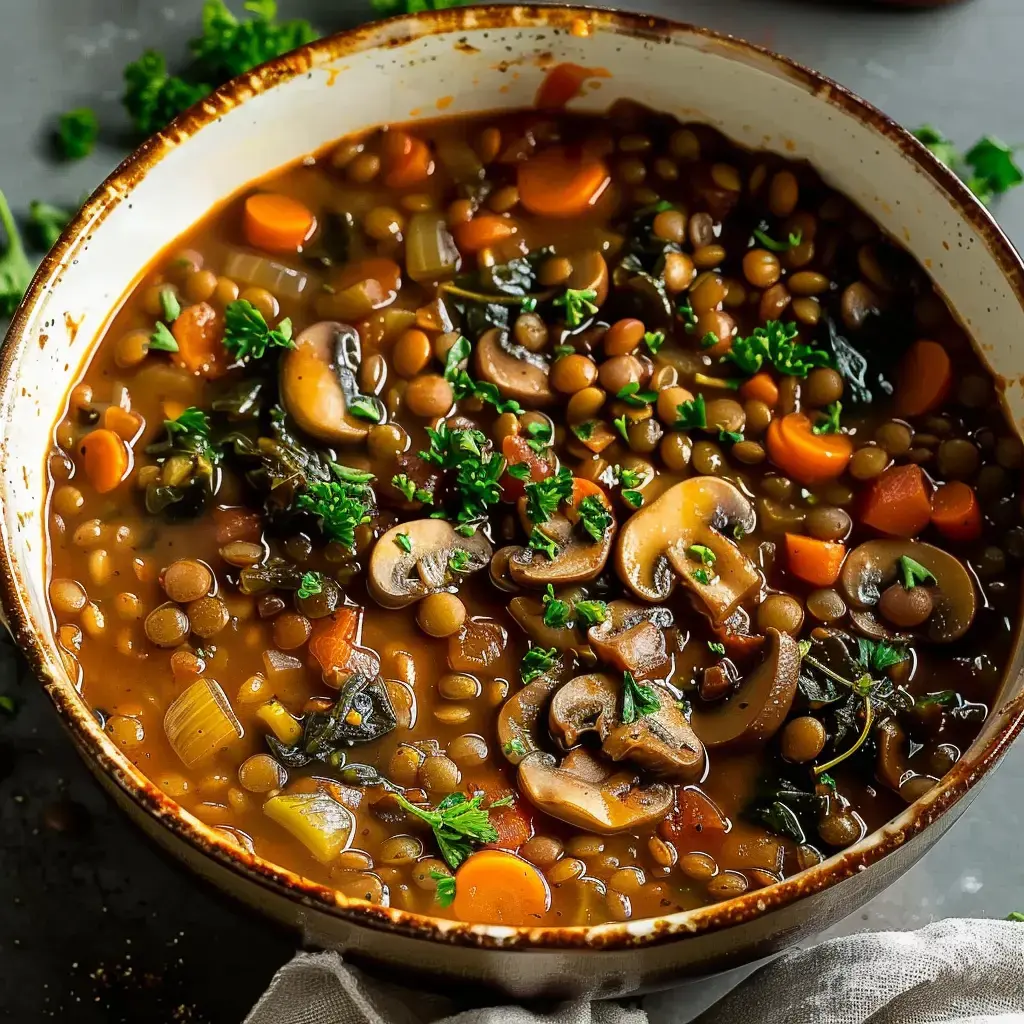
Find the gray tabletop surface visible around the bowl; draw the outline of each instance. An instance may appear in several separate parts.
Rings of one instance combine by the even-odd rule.
[[[325,31],[368,3],[285,0]],[[1024,140],[1021,0],[904,12],[837,0],[649,0],[636,6],[743,36],[820,69],[894,118]],[[73,203],[118,161],[120,74],[146,45],[178,51],[200,0],[0,0],[0,188],[15,207]],[[94,105],[103,143],[87,161],[48,156],[54,114]],[[1024,189],[1022,189],[1024,193]],[[1024,245],[1024,195],[997,214]],[[166,861],[87,776],[16,653],[0,648],[0,1017],[237,1021],[292,948]],[[835,931],[913,928],[1024,908],[1024,745],[952,831],[903,880]]]

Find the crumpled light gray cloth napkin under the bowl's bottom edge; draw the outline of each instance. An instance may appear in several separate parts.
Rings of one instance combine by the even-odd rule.
[[[299,953],[246,1024],[680,1024],[690,1007],[670,990],[626,1001],[464,1008],[372,978],[337,953]],[[938,1021],[1024,1024],[1024,924],[950,920],[831,939],[761,968],[696,1024]]]

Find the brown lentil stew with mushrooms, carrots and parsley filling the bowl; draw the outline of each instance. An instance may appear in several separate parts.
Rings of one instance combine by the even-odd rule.
[[[467,922],[655,916],[956,762],[1022,461],[806,164],[625,103],[389,126],[127,297],[54,432],[50,606],[108,734],[240,847]]]

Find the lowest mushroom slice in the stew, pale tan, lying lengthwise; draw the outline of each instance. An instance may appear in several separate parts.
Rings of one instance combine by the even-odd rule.
[[[560,767],[542,751],[520,762],[519,788],[538,810],[599,836],[653,824],[669,813],[674,799],[673,787],[665,782],[642,785],[632,772],[608,774],[598,781]]]

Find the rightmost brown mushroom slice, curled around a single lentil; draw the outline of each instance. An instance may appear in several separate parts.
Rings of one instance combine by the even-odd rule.
[[[934,643],[958,640],[971,628],[978,608],[974,584],[959,559],[921,541],[866,541],[850,552],[840,583],[850,607],[860,612],[855,617],[851,613],[857,628],[868,636],[893,635],[879,622],[874,607],[882,592],[897,579],[902,555],[935,577],[935,608],[921,627],[922,635]]]

